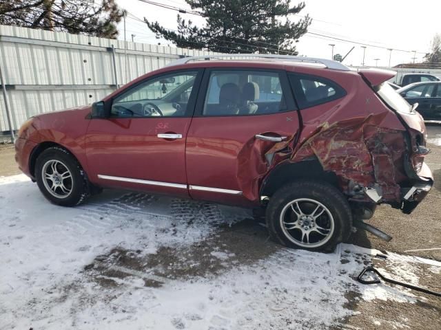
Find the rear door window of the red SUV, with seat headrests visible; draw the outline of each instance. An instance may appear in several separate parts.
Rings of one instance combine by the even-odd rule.
[[[209,77],[203,115],[260,115],[286,110],[277,73],[214,71]]]

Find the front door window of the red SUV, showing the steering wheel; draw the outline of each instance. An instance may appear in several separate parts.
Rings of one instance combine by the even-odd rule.
[[[120,118],[185,115],[197,72],[153,78],[117,96],[110,115]]]

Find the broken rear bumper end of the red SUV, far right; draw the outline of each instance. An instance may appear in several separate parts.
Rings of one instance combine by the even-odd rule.
[[[422,164],[418,175],[420,181],[416,182],[411,188],[406,189],[406,191],[403,191],[401,210],[404,214],[411,214],[433,186],[433,175],[426,163]]]

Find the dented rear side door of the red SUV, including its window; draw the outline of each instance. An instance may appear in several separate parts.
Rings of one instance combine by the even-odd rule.
[[[189,193],[228,203],[258,201],[259,177],[277,140],[298,133],[286,72],[206,69],[187,135]]]

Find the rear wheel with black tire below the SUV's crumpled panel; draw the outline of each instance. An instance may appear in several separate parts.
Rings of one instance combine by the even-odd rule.
[[[291,204],[293,201],[297,204]],[[312,213],[299,212],[298,206],[307,210],[318,207],[314,216],[323,212],[314,219]],[[338,243],[349,238],[352,228],[351,208],[345,196],[331,184],[318,181],[296,181],[277,190],[269,199],[266,218],[271,239],[289,248],[310,251],[334,251]]]

